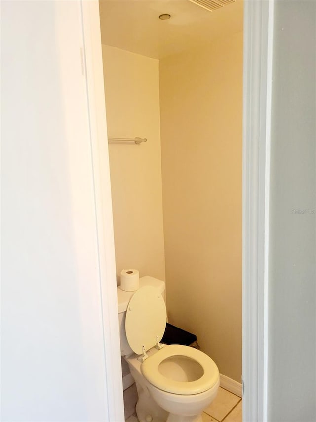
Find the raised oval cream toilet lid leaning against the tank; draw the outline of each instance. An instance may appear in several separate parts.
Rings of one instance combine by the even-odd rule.
[[[163,336],[166,321],[166,306],[157,288],[138,289],[129,301],[125,319],[126,337],[133,352],[142,355],[143,345],[145,351],[154,347]]]

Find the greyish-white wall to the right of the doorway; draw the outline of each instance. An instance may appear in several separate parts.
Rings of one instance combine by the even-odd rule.
[[[274,16],[268,420],[316,420],[316,2]]]

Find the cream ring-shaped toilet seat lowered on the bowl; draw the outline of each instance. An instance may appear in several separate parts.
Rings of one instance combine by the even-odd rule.
[[[159,365],[167,358],[181,356],[196,361],[203,369],[203,375],[195,381],[179,382],[167,378],[159,371]],[[141,365],[144,377],[158,389],[181,395],[202,393],[212,388],[219,379],[215,362],[200,350],[189,346],[171,344],[147,358]]]

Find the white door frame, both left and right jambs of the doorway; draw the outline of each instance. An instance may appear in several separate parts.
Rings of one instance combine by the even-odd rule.
[[[244,3],[243,420],[267,420],[268,223],[273,0]],[[110,171],[99,6],[82,1],[102,299],[109,421],[123,421]]]

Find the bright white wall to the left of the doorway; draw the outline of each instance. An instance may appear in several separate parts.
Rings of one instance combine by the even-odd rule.
[[[79,2],[1,2],[2,421],[110,418],[81,47]]]

